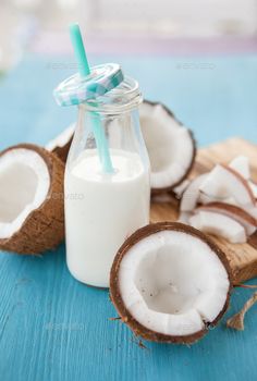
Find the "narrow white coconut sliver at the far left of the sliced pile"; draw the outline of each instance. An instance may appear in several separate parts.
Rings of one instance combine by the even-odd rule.
[[[199,187],[208,176],[208,173],[200,174],[199,176],[192,180],[187,188],[182,195],[180,210],[181,211],[193,211],[200,197]]]

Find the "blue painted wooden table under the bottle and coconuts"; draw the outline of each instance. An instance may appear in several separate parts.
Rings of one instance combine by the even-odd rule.
[[[257,56],[233,58],[96,57],[119,61],[149,99],[162,100],[196,134],[199,145],[241,135],[257,143]],[[72,74],[73,59],[27,57],[0,81],[0,148],[46,144],[76,118],[51,93]],[[252,283],[256,283],[253,280]],[[236,290],[225,318],[249,291]],[[0,254],[0,380],[256,380],[256,306],[246,330],[224,321],[193,346],[146,343],[111,321],[108,292],[68,272],[65,247],[41,257]]]

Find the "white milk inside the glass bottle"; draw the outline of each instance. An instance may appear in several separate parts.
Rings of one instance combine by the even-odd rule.
[[[66,260],[81,282],[109,286],[112,261],[125,238],[149,223],[149,173],[136,153],[110,150],[113,174],[103,174],[96,150],[66,169]]]

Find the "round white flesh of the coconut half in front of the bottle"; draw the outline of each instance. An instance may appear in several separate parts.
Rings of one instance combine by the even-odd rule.
[[[142,325],[183,336],[218,317],[230,282],[208,244],[185,232],[162,231],[128,249],[120,263],[119,287],[126,309]]]

